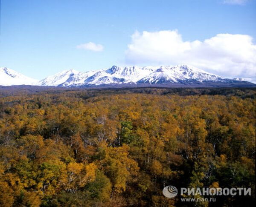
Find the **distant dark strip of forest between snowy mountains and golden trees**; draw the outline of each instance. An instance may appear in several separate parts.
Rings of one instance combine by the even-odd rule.
[[[239,96],[241,98],[256,98],[255,88],[107,88],[107,89],[79,89],[48,86],[2,86],[0,97],[33,95],[39,93],[60,94],[64,92],[76,92],[82,98],[90,98],[97,95],[142,93],[155,95],[225,95]],[[68,95],[68,94],[67,94]]]

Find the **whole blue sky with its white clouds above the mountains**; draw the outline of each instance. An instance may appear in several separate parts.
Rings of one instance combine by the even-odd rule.
[[[255,21],[256,0],[1,0],[0,66],[42,79],[185,63],[254,81]]]

